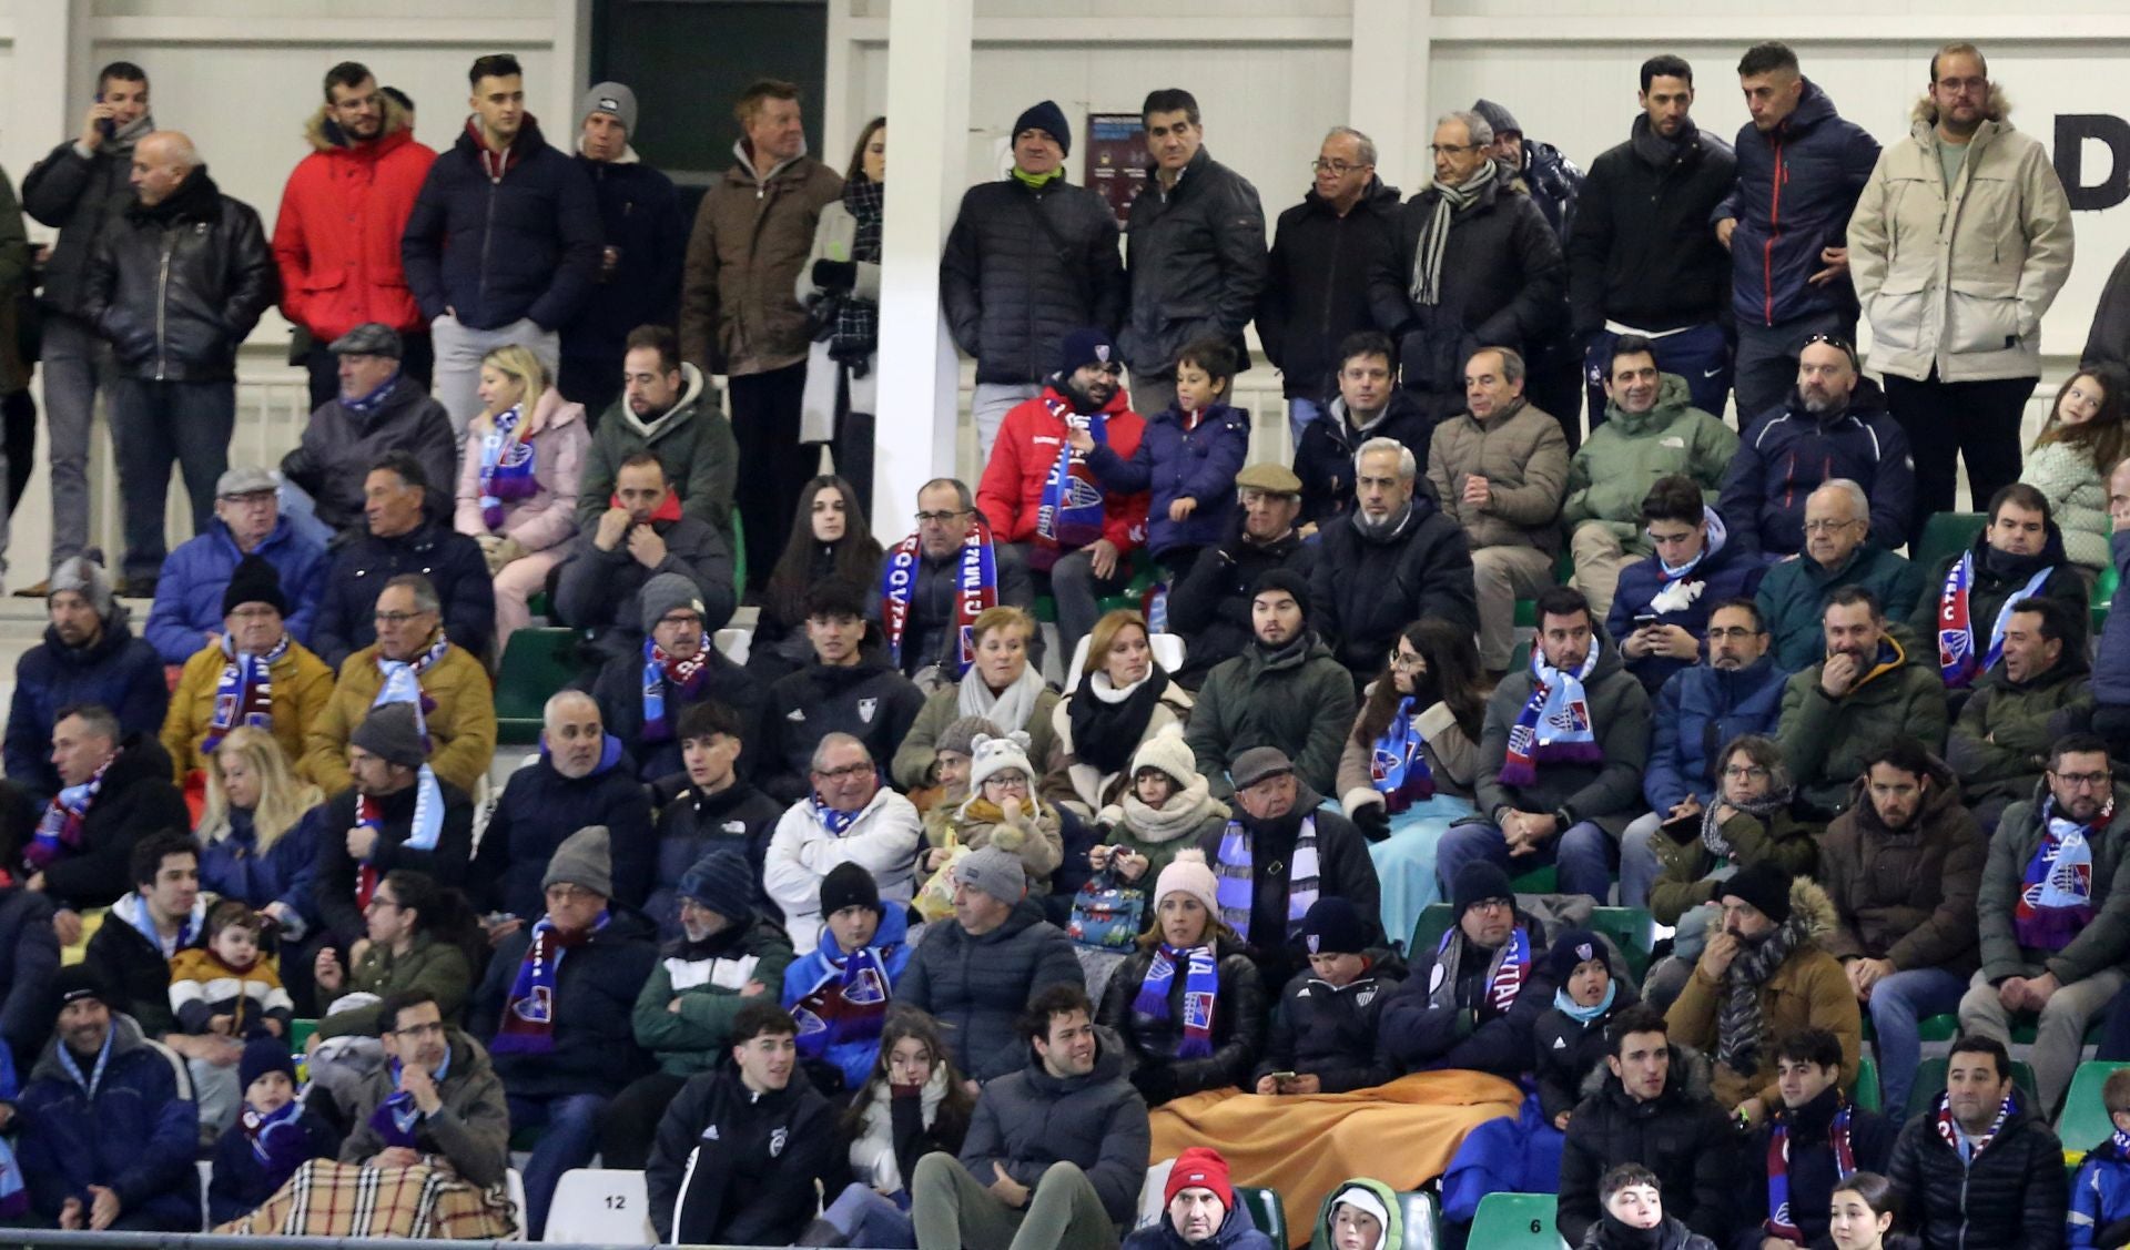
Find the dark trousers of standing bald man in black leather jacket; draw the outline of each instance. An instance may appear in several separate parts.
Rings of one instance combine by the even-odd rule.
[[[170,494],[170,464],[185,475],[192,530],[215,520],[215,481],[230,466],[236,430],[234,381],[149,381],[119,377],[111,385],[111,449],[126,496],[126,579],[153,581],[168,543],[162,507]]]

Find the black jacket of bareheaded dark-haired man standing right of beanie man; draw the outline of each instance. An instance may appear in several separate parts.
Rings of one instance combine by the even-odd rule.
[[[1167,377],[1197,339],[1227,339],[1238,368],[1250,366],[1242,328],[1265,290],[1265,209],[1248,179],[1203,147],[1176,190],[1146,179],[1125,236],[1131,313],[1116,336],[1133,373]]]

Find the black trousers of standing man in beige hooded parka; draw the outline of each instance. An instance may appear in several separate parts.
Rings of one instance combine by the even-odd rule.
[[[1975,511],[1983,511],[1992,494],[2019,481],[2019,417],[2038,381],[1938,381],[1936,371],[1926,381],[1885,375],[1885,407],[1908,434],[1908,451],[1915,456],[1911,539],[1923,534],[1923,522],[1932,513],[1953,511],[1955,458],[1968,462]]]

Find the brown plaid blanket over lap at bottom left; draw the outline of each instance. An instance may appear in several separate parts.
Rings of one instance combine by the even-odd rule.
[[[430,1156],[435,1158],[435,1156]],[[215,1233],[232,1237],[511,1237],[518,1212],[503,1186],[479,1190],[443,1161],[362,1167],[313,1158],[266,1205]]]

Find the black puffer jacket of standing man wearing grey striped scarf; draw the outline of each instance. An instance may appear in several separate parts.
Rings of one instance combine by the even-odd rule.
[[[1568,266],[1561,241],[1531,196],[1500,179],[1451,219],[1442,251],[1442,290],[1433,307],[1412,302],[1412,264],[1438,194],[1406,200],[1391,251],[1367,283],[1376,328],[1397,339],[1408,390],[1429,415],[1463,411],[1463,366],[1480,347],[1529,356],[1568,317]]]

